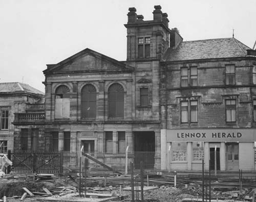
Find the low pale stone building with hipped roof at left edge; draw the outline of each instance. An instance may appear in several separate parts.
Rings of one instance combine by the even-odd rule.
[[[23,83],[0,83],[0,144],[1,152],[13,150],[15,136],[14,115],[33,112],[33,106],[44,103],[44,93]]]

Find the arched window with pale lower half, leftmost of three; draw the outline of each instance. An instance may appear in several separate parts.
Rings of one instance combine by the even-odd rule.
[[[70,117],[70,92],[65,85],[59,86],[55,91],[55,118]]]

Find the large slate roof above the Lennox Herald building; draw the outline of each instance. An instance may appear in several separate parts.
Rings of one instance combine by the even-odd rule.
[[[184,41],[176,49],[168,48],[163,61],[245,57],[247,49],[251,48],[235,38]]]

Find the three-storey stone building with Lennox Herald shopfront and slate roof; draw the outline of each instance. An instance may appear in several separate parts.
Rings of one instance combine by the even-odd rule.
[[[161,168],[254,170],[256,51],[235,38],[181,42],[161,62]],[[167,142],[167,144],[166,144]],[[164,161],[165,159],[165,161]]]

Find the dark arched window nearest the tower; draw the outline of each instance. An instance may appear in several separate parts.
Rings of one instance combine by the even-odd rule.
[[[120,84],[112,84],[109,87],[109,117],[123,118],[124,91]]]

